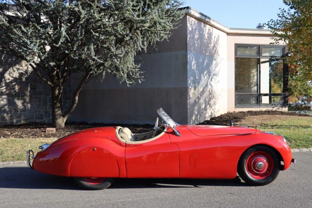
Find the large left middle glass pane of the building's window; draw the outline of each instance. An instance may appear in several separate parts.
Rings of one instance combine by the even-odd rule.
[[[235,59],[235,92],[258,93],[258,58]]]

